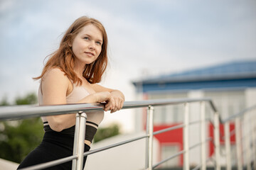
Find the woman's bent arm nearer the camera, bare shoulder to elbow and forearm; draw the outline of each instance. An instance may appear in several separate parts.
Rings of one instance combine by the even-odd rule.
[[[73,86],[68,77],[58,68],[50,69],[46,72],[42,80],[41,88],[43,91],[43,105],[66,104],[66,96],[73,90]],[[85,96],[85,98],[82,98],[78,103],[97,103],[104,101],[106,101],[107,104],[115,102],[110,91],[97,91],[95,94]],[[110,107],[105,107],[105,111],[109,109]],[[50,115],[46,116],[46,118],[50,128],[57,132],[75,125],[75,114]]]

